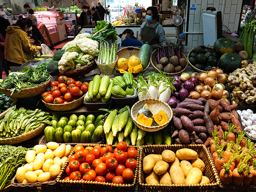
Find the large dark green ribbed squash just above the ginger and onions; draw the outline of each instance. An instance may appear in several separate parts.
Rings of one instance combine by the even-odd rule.
[[[220,57],[220,67],[224,69],[225,72],[233,72],[237,68],[241,68],[242,60],[236,53],[225,53]]]

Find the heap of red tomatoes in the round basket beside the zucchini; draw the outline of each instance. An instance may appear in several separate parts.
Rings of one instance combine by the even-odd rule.
[[[66,104],[79,99],[88,91],[88,82],[75,81],[67,76],[60,76],[57,81],[51,81],[50,91],[43,92],[41,97],[46,103]]]

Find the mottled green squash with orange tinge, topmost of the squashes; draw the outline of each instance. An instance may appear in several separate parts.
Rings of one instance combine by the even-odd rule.
[[[220,38],[214,42],[213,49],[220,55],[233,53],[236,51],[236,43],[228,38]]]

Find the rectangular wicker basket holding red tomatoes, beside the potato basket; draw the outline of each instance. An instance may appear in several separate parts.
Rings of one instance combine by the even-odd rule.
[[[95,146],[95,145],[83,145],[84,148],[87,146]],[[100,145],[101,147],[107,146],[107,145]],[[116,145],[112,145],[115,146]],[[137,156],[137,162],[139,162],[139,154],[140,154],[140,149],[136,146],[133,146],[138,150],[138,156]],[[70,153],[70,156],[74,154],[74,151]],[[138,164],[137,164],[138,165]],[[113,191],[113,192],[134,192],[135,187],[136,187],[136,181],[137,181],[137,176],[138,176],[138,166],[134,172],[134,178],[132,180],[131,184],[113,184],[113,183],[102,183],[102,182],[97,182],[97,181],[82,181],[82,180],[64,180],[66,177],[65,169],[68,166],[68,160],[64,163],[63,167],[61,168],[60,174],[56,178],[57,184],[60,186],[62,191]]]

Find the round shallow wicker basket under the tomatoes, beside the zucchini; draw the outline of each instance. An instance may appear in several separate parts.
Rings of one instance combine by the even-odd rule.
[[[42,100],[42,102],[48,109],[51,109],[52,111],[69,111],[83,104],[84,96],[80,97],[75,101],[69,102],[67,104],[49,104],[49,103],[46,103],[44,100]]]

